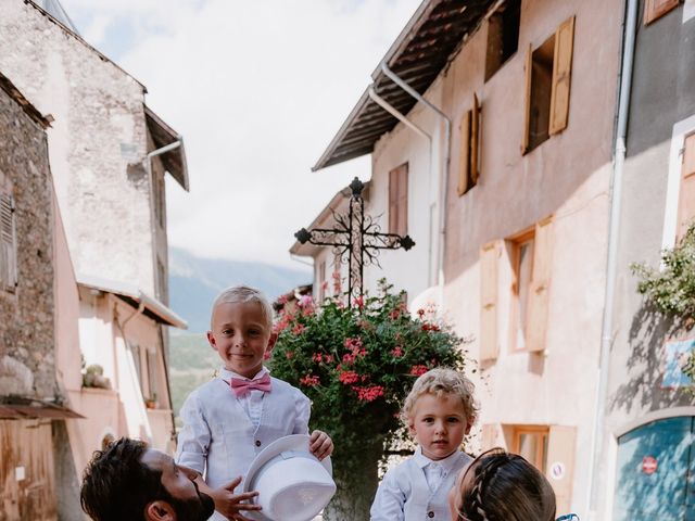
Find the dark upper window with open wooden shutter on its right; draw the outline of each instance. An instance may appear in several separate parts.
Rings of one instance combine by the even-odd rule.
[[[526,62],[526,125],[522,151],[530,152],[567,128],[574,17],[564,22]]]

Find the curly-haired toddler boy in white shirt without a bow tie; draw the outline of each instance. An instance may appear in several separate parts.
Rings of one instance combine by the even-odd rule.
[[[462,373],[432,369],[415,381],[402,417],[418,447],[383,476],[371,521],[451,520],[447,495],[472,460],[460,444],[477,414],[473,384]]]

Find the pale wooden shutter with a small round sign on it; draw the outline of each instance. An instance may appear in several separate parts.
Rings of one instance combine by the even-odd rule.
[[[577,428],[551,425],[545,475],[555,491],[558,512],[569,511],[574,476],[576,445]]]

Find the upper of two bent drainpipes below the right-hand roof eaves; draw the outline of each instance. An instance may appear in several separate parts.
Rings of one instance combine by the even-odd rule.
[[[438,250],[438,285],[440,293],[440,306],[442,309],[444,308],[444,239],[446,236],[446,188],[448,187],[448,164],[451,161],[451,136],[452,136],[452,120],[451,118],[444,114],[438,106],[430,103],[426,100],[417,90],[406,84],[400,76],[397,76],[393,71],[389,68],[389,66],[383,62],[381,64],[381,71],[386,74],[391,80],[405,90],[408,94],[415,98],[417,101],[422,103],[432,110],[438,116],[440,116],[444,120],[444,165],[442,168],[442,173],[440,175],[440,200],[439,200],[439,228],[440,228],[440,238],[439,238],[439,250]]]

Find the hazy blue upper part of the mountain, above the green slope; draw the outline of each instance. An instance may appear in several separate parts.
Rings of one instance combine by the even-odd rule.
[[[243,283],[258,288],[275,300],[311,280],[308,267],[291,269],[264,263],[202,258],[180,247],[169,247],[169,307],[188,322],[188,333],[207,331],[210,306],[225,288]]]

